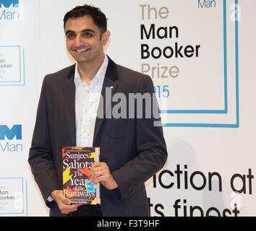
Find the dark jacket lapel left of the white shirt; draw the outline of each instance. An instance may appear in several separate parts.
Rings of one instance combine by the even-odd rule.
[[[75,65],[71,67],[64,83],[64,110],[67,116],[70,139],[72,141],[71,146],[76,146],[74,67]]]

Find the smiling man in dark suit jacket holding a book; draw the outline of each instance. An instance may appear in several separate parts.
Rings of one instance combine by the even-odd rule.
[[[75,7],[64,17],[64,30],[67,50],[77,64],[43,80],[28,160],[50,216],[148,216],[144,183],[167,158],[162,127],[155,123],[160,117],[153,82],[105,55],[110,32],[100,9]],[[101,97],[95,101],[98,115],[88,122],[86,109],[93,105],[80,100],[86,101],[90,91],[101,92]],[[142,102],[141,107],[129,108],[132,94],[142,101],[150,95],[149,107]],[[127,101],[119,107],[121,114],[116,110],[117,115],[107,116],[121,103],[113,100],[116,95]],[[131,112],[135,116],[129,116]],[[101,147],[101,162],[90,170],[90,180],[101,183],[101,206],[71,204],[62,191],[61,147],[81,145]]]

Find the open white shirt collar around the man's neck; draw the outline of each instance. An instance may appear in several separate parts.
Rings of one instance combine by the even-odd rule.
[[[108,56],[105,54],[105,58],[103,61],[103,64],[101,64],[100,69],[98,69],[97,74],[93,78],[92,82],[90,85],[93,85],[94,82],[103,82],[103,79],[106,75],[106,69],[108,67]],[[78,87],[80,84],[82,84],[82,78],[80,76],[80,73],[78,71],[78,65],[75,64],[75,69],[74,69],[74,85]]]

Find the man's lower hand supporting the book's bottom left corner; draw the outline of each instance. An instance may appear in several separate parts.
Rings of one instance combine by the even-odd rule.
[[[71,204],[71,201],[64,196],[62,190],[54,190],[51,192],[51,198],[58,204],[59,210],[62,214],[69,214],[70,212],[77,211],[77,207],[81,204]]]

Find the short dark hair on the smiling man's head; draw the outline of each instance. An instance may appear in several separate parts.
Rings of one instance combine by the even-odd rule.
[[[67,12],[64,16],[64,28],[67,22],[67,19],[69,18],[78,18],[78,17],[84,17],[89,16],[93,19],[94,24],[100,29],[101,35],[103,32],[107,30],[107,19],[106,15],[101,12],[101,9],[85,4],[83,6],[76,6],[71,11]]]

